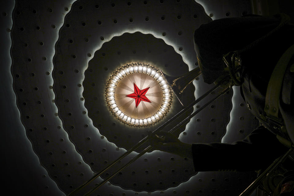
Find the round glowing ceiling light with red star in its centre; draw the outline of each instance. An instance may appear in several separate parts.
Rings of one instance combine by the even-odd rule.
[[[144,63],[119,68],[107,81],[105,92],[109,110],[129,126],[145,127],[159,122],[172,102],[171,88],[160,70]]]

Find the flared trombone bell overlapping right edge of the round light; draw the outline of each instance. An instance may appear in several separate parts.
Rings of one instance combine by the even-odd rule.
[[[168,76],[167,74],[164,74],[161,70],[160,72],[163,74],[172,91],[174,92],[174,95],[178,98],[179,102],[182,105],[183,91],[186,89],[188,84],[190,84],[193,80],[195,80],[195,78],[201,75],[201,70],[199,67],[180,76]]]

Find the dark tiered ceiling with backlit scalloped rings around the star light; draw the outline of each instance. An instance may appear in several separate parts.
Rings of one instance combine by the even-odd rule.
[[[21,170],[9,181],[23,181],[31,194],[69,194],[143,139],[147,130],[156,129],[211,88],[197,78],[185,90],[184,106],[170,92],[172,101],[164,106],[168,112],[156,123],[150,119],[148,125],[148,118],[156,113],[151,102],[159,104],[158,108],[161,102],[151,96],[158,91],[150,88],[153,76],[148,76],[150,82],[144,85],[145,79],[138,75],[141,79],[134,83],[139,90],[150,88],[146,92],[150,103],[143,100],[137,105],[134,99],[126,98],[135,92],[133,84],[116,95],[134,100],[128,105],[130,116],[137,107],[145,116],[146,126],[129,126],[120,121],[123,115],[121,119],[115,117],[116,111],[111,112],[113,108],[110,111],[111,104],[106,101],[106,93],[111,92],[106,89],[108,81],[118,69],[144,63],[146,69],[154,67],[170,76],[184,74],[197,67],[195,29],[214,19],[245,13],[251,13],[249,1],[6,2],[1,15],[5,40],[2,80],[6,87],[2,89],[2,103],[10,115],[4,117],[7,141],[3,144],[13,146],[6,160],[17,161],[7,173]],[[160,89],[162,84],[158,84]],[[230,143],[250,133],[257,121],[245,108],[239,89],[233,90],[176,130],[179,139],[186,143]],[[162,92],[160,99],[165,97]],[[204,102],[194,109],[201,104]],[[166,130],[192,112],[187,111]],[[143,119],[142,125],[144,118],[138,117]],[[89,191],[147,146],[138,148],[76,195]],[[205,157],[199,157],[202,159]],[[153,151],[92,195],[236,195],[252,177],[252,172],[197,173],[192,160]]]

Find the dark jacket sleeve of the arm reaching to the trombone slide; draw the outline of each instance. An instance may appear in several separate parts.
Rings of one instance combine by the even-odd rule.
[[[192,144],[195,171],[253,171],[266,168],[288,150],[263,126],[232,144]]]

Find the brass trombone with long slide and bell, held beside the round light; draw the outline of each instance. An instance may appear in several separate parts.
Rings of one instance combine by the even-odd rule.
[[[166,81],[171,86],[174,95],[179,99],[181,102],[181,96],[184,91],[184,89],[187,87],[188,84],[190,84],[195,78],[199,77],[201,75],[201,70],[199,67],[195,68],[194,70],[191,70],[190,72],[187,72],[186,74],[180,75],[178,77],[171,77],[161,72],[161,74],[165,77]],[[230,79],[230,76],[224,77],[223,80],[221,80],[219,83],[217,83],[213,88],[209,89],[207,92],[205,92],[202,96],[200,96],[198,99],[194,100],[191,104],[189,104],[187,107],[184,107],[181,111],[179,111],[176,115],[174,115],[171,119],[166,121],[164,124],[159,126],[157,129],[155,129],[151,134],[156,134],[160,130],[163,130],[164,127],[166,127],[169,123],[173,122],[175,119],[177,119],[180,115],[185,113],[187,110],[192,108],[195,104],[197,104],[199,101],[204,99],[207,95],[209,95],[211,92],[216,90],[218,87],[222,87],[222,90],[217,94],[217,96],[213,97],[211,100],[209,100],[206,104],[204,104],[202,107],[198,108],[196,111],[194,111],[191,115],[189,115],[187,118],[185,118],[183,121],[181,121],[179,124],[177,124],[175,127],[173,127],[171,130],[169,130],[169,133],[173,133],[176,129],[178,129],[180,126],[182,126],[184,123],[189,121],[193,116],[198,114],[202,109],[204,109],[206,106],[208,106],[210,103],[212,103],[214,100],[228,92],[231,87],[235,85],[234,82]],[[122,160],[124,157],[126,157],[128,154],[133,152],[135,149],[137,149],[139,146],[144,144],[146,141],[148,141],[148,137],[146,136],[141,141],[139,141],[136,145],[134,145],[132,148],[127,150],[123,155],[119,156],[116,160],[114,160],[112,163],[110,163],[107,167],[96,173],[94,176],[92,176],[91,179],[89,179],[87,182],[83,183],[81,186],[76,188],[74,191],[72,191],[68,196],[73,196],[75,193],[77,193],[79,190],[87,186],[89,183],[91,183],[94,179],[99,177],[102,173],[107,171],[109,168],[111,168],[113,165],[118,163],[120,160]],[[92,190],[87,192],[84,196],[90,195],[92,192],[94,192],[96,189],[101,187],[104,183],[106,183],[108,180],[113,178],[116,174],[118,174],[120,171],[122,171],[124,168],[129,166],[131,163],[133,163],[135,160],[137,160],[139,157],[144,155],[146,152],[150,151],[153,147],[149,145],[147,148],[145,148],[141,153],[139,153],[137,156],[135,156],[133,159],[131,159],[128,163],[123,165],[119,170],[114,172],[112,175],[108,176],[106,179],[104,179],[102,182],[97,184]]]

